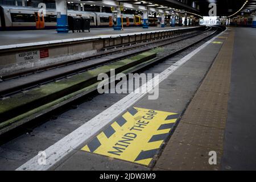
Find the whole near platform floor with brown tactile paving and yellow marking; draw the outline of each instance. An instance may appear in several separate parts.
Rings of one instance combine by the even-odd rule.
[[[129,119],[138,120],[148,111],[151,114],[162,115],[162,118],[159,116],[156,121],[165,118],[158,133],[153,136],[148,133],[150,144],[146,148],[140,152],[136,147],[132,150],[127,149],[130,150],[130,153],[128,152],[130,156],[133,156],[135,151],[139,154],[137,160],[131,159],[127,153],[123,158],[118,156],[114,159],[113,156],[106,156],[105,148],[101,146],[105,142],[108,147],[108,139],[104,136],[111,138],[113,130],[111,127],[104,127],[101,130],[104,132],[95,133],[89,140],[84,140],[61,160],[59,160],[61,155],[67,152],[68,137],[64,138],[62,143],[59,141],[49,147],[46,150],[50,152],[47,153],[50,155],[49,163],[54,162],[55,159],[59,160],[50,169],[255,170],[256,125],[253,116],[256,108],[255,44],[255,29],[230,27],[201,47],[199,52],[195,50],[179,64],[175,64],[174,67],[177,69],[172,67],[173,72],[170,68],[166,72],[170,75],[160,82],[157,100],[148,100],[148,97],[144,96],[133,104],[133,107],[129,107],[127,112],[113,119],[125,126],[129,123]],[[186,62],[181,64],[182,61]],[[132,99],[133,97],[130,98]],[[121,108],[122,105],[119,107]],[[103,120],[104,118],[101,122]],[[90,121],[87,124],[90,125]],[[119,131],[118,125],[111,126]],[[77,136],[82,135],[83,131],[79,130]],[[169,140],[166,139],[168,134],[171,134]],[[69,137],[72,136],[75,135]],[[145,136],[144,140],[137,143],[137,147],[141,147],[148,140],[148,136]],[[98,143],[98,140],[102,143]],[[166,142],[166,145],[163,145],[163,142]],[[156,152],[154,147],[162,148],[158,158],[154,156]],[[210,151],[216,152],[217,164],[209,164]],[[42,169],[42,166],[37,166],[37,160],[37,158],[32,159],[20,169]]]

